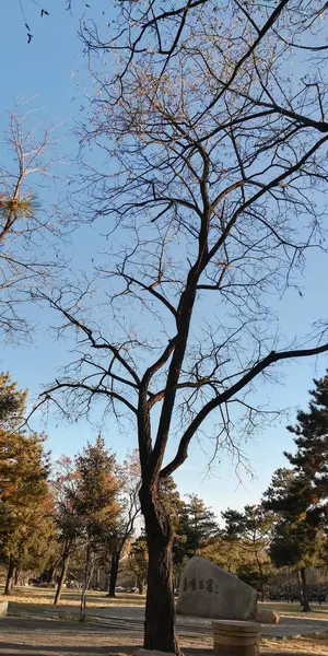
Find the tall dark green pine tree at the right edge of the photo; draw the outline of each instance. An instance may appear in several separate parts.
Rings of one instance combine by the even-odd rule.
[[[296,452],[284,455],[293,469],[278,470],[266,493],[267,507],[279,516],[271,557],[300,571],[304,610],[309,610],[306,567],[318,561],[328,507],[328,375],[314,383],[308,411],[300,410],[296,424],[288,426]]]

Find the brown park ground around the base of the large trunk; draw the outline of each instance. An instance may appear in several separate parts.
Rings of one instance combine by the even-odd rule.
[[[52,595],[49,589],[19,588],[9,598],[10,614],[0,620],[0,656],[126,655],[141,646],[143,597],[130,594],[108,599],[104,593],[91,593],[87,621],[81,624],[79,593],[66,591],[59,607],[51,605]],[[262,656],[328,656],[328,606],[315,606],[309,616],[296,604],[270,606],[282,619],[279,629],[265,628]],[[178,633],[186,654],[213,654],[209,620],[180,617]]]

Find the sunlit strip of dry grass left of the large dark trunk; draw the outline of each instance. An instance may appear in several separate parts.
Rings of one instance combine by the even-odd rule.
[[[2,595],[1,595],[2,593]],[[10,601],[10,604],[25,604],[30,606],[52,606],[54,605],[54,588],[38,587],[15,587],[9,596],[3,595],[3,588],[0,588],[0,600]],[[58,607],[60,606],[80,606],[81,591],[66,589]],[[133,593],[117,593],[115,599],[106,596],[105,591],[90,590],[87,593],[87,606],[91,608],[106,608],[110,606],[143,606],[144,595],[136,595]]]

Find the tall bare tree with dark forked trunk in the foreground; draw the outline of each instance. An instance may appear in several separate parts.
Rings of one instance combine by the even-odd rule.
[[[274,312],[285,289],[297,294],[308,248],[324,249],[327,69],[313,54],[306,74],[291,68],[300,63],[291,33],[311,39],[326,5],[120,7],[109,39],[92,24],[83,32],[99,59],[81,142],[99,149],[99,165],[85,163],[79,200],[103,232],[108,223],[112,247],[94,281],[48,295],[60,332],[77,336],[77,356],[44,399],[75,417],[103,399],[118,422],[134,422],[149,550],[144,646],[178,653],[160,480],[197,437],[212,437],[213,457],[224,447],[238,457],[262,417],[255,383],[279,362],[328,351],[325,318],[288,342]]]

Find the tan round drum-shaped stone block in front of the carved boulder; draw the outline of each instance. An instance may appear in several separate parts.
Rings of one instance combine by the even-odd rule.
[[[258,622],[212,622],[214,652],[221,656],[259,656],[261,625]]]

